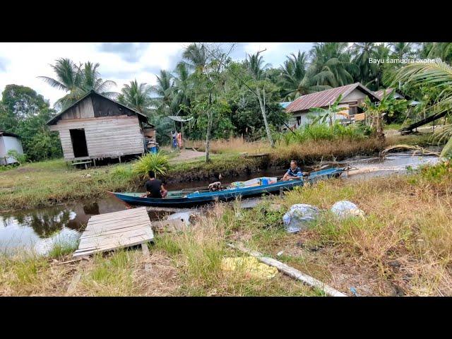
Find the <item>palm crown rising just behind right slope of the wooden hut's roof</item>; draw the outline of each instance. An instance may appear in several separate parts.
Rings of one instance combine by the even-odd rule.
[[[121,104],[136,109],[138,112],[147,113],[150,105],[150,94],[152,89],[145,83],[131,81],[130,84],[125,84],[121,89],[121,94],[118,97],[118,101]]]

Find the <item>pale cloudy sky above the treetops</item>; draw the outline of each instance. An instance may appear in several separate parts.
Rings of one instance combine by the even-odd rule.
[[[117,83],[119,92],[124,83],[154,85],[160,69],[172,71],[182,59],[190,42],[0,42],[0,92],[8,84],[24,85],[50,100],[50,104],[66,93],[52,88],[38,76],[54,78],[51,64],[59,58],[78,63],[98,62],[104,80]],[[225,48],[230,44],[225,44]],[[311,49],[311,42],[239,42],[232,50],[232,59],[244,59],[246,54],[262,53],[264,61],[273,67],[283,64],[291,53]]]

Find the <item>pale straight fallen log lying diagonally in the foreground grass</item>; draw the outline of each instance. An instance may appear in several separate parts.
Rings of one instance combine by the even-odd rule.
[[[330,286],[322,283],[320,280],[312,278],[310,275],[304,274],[304,273],[300,272],[299,270],[286,265],[285,263],[281,263],[280,261],[275,260],[273,258],[269,258],[268,256],[263,256],[263,254],[259,253],[258,251],[252,251],[251,249],[246,249],[246,247],[243,244],[240,244],[240,243],[227,244],[227,246],[230,246],[232,249],[238,249],[239,251],[249,254],[250,256],[255,256],[258,259],[258,261],[266,263],[269,266],[278,268],[278,270],[280,272],[285,273],[286,275],[289,275],[290,278],[299,280],[302,283],[305,283],[311,287],[316,287],[319,290],[325,292],[325,294],[329,295],[330,297],[348,297],[347,295],[343,294],[342,292],[335,290],[333,287],[330,287]]]

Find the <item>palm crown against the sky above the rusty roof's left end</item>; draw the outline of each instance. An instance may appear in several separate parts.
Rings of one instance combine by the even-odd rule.
[[[294,100],[309,93],[319,92],[331,88],[328,85],[316,85],[312,76],[307,72],[308,61],[306,52],[290,54],[281,67],[280,87],[283,88],[285,100]]]

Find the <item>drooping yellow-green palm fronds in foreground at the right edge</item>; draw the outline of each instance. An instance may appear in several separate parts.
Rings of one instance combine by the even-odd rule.
[[[393,79],[394,83],[398,81],[439,90],[439,95],[431,108],[438,109],[439,112],[452,109],[452,67],[441,59],[435,59],[434,63],[415,63],[404,66],[398,70]],[[439,136],[449,138],[441,151],[441,156],[449,155],[452,151],[452,128],[442,130]]]

